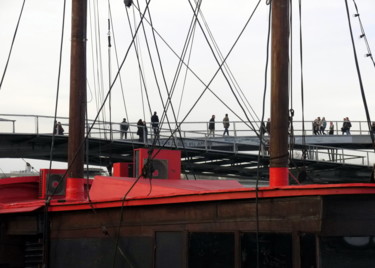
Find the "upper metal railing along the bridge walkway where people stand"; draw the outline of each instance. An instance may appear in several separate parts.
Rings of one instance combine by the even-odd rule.
[[[56,119],[61,122],[65,134],[69,133],[69,120],[67,117],[58,117]],[[327,121],[327,127],[325,133],[328,134],[329,122]],[[332,121],[334,124],[334,135],[342,135],[341,127],[342,121]],[[91,127],[93,120],[88,120],[88,126]],[[256,132],[259,133],[260,122],[242,122],[242,121],[230,121],[229,135],[234,137],[244,136],[255,136]],[[351,135],[369,135],[368,124],[366,121],[351,121],[352,127],[350,129]],[[0,114],[0,132],[2,133],[30,133],[30,134],[51,134],[54,126],[54,118],[52,116],[41,116],[41,115],[18,115],[18,114]],[[195,121],[195,122],[184,122],[181,125],[176,123],[164,122],[160,125],[162,132],[169,132],[179,127],[182,137],[208,137],[209,135],[209,122]],[[148,133],[152,133],[150,123],[147,124]],[[137,138],[137,124],[136,122],[130,122],[130,133],[131,138]],[[223,123],[216,121],[215,123],[215,137],[222,136],[224,132]],[[312,120],[305,121],[302,124],[301,121],[293,121],[293,133],[294,135],[313,135]],[[106,122],[97,121],[91,129],[91,136],[104,139],[119,139],[120,138],[120,123],[117,122]]]

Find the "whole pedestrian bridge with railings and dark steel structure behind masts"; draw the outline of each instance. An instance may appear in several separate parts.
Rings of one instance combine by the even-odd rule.
[[[0,158],[49,160],[53,139],[53,159],[66,162],[68,118],[57,118],[57,121],[62,123],[64,135],[52,134],[53,117],[0,114]],[[291,165],[308,165],[314,171],[350,170],[346,171],[346,176],[352,175],[349,174],[352,171],[370,172],[375,157],[370,150],[373,146],[367,122],[352,121],[351,135],[338,131],[341,121],[333,122],[334,135],[313,135],[312,122],[305,122],[304,126],[302,122],[293,122],[294,135],[289,141],[293,144]],[[92,165],[105,166],[109,162],[132,161],[135,148],[177,148],[182,151],[183,168],[187,173],[255,176],[258,167],[269,164],[269,136],[266,134],[260,142],[259,126],[259,122],[230,121],[230,135],[222,136],[223,124],[216,122],[215,135],[209,136],[208,122],[164,123],[160,125],[158,137],[148,125],[147,136],[139,141],[135,122],[130,122],[127,138],[120,139],[120,122],[94,124],[89,120],[88,159]]]

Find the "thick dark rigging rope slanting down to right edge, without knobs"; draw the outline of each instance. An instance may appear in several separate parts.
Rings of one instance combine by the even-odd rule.
[[[350,22],[348,0],[345,0],[345,7],[346,7],[346,14],[347,14],[347,17],[348,17],[348,26],[349,26],[350,37],[351,37],[351,41],[352,41],[353,56],[354,56],[355,66],[356,66],[356,69],[357,69],[358,82],[359,82],[359,86],[360,86],[360,90],[361,90],[363,106],[364,106],[365,112],[366,112],[367,125],[368,125],[370,136],[371,136],[372,146],[375,150],[374,132],[371,130],[371,118],[370,118],[370,113],[369,113],[368,106],[367,106],[365,90],[364,90],[363,83],[362,83],[361,70],[360,70],[359,64],[358,64],[357,51],[356,51],[356,47],[355,47],[355,43],[354,43],[354,37],[353,37],[353,29],[352,29],[352,25],[351,25],[351,22]]]

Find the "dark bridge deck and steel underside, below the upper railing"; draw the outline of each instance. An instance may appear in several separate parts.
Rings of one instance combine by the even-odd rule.
[[[268,137],[265,138],[267,143]],[[50,159],[51,134],[1,134],[0,158]],[[307,136],[307,158],[302,160],[302,138],[294,139],[295,152],[290,166],[297,176],[302,166],[308,168],[315,180],[334,180],[335,177],[354,181],[368,181],[372,161],[361,156],[356,148],[370,148],[369,135],[352,136]],[[55,136],[54,161],[67,161],[68,136]],[[133,150],[150,147],[152,141],[139,142],[133,139],[108,140],[88,139],[88,161],[90,165],[106,166],[109,162],[129,162],[133,160]],[[324,146],[322,146],[324,145]],[[258,156],[257,137],[215,137],[204,139],[160,138],[155,148],[178,148],[182,151],[182,170],[186,174],[212,175],[254,179],[258,175],[268,178],[269,157],[266,150]],[[345,151],[345,153],[344,153]],[[259,174],[258,174],[259,164]]]

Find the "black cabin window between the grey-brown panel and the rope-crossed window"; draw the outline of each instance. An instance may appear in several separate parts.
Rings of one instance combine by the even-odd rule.
[[[234,267],[234,241],[234,233],[190,233],[189,267]]]

